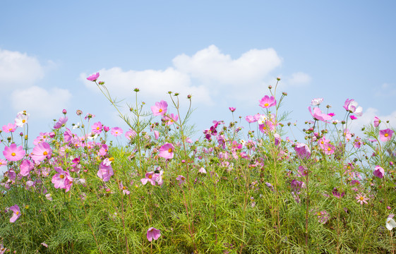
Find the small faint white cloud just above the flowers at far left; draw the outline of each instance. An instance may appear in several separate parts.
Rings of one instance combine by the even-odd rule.
[[[25,90],[15,90],[11,94],[11,105],[16,111],[26,110],[42,119],[59,116],[62,109],[68,107],[71,93],[54,87],[44,90],[32,86]]]

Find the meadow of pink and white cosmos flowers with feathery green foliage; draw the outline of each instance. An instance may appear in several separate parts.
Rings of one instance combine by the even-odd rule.
[[[88,80],[119,110],[98,78]],[[312,99],[304,140],[291,140],[279,82],[257,98],[261,114],[234,119],[229,107],[232,121],[213,121],[198,139],[193,98],[183,95],[182,116],[177,92],[146,106],[133,90],[129,114],[119,111],[124,130],[80,110],[71,123],[64,110],[32,138],[29,113],[19,112],[0,131],[0,254],[394,253],[386,119],[358,137],[349,130],[363,111],[354,99]]]

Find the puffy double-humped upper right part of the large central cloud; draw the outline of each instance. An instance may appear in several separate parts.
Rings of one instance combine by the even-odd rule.
[[[263,80],[270,71],[280,66],[282,59],[274,49],[251,49],[239,59],[232,59],[231,56],[222,54],[215,45],[211,45],[193,56],[176,56],[173,63],[178,71],[204,82],[241,85]]]

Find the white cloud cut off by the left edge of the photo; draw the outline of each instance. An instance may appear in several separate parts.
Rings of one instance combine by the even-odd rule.
[[[1,90],[28,87],[43,76],[44,68],[35,57],[0,49]]]

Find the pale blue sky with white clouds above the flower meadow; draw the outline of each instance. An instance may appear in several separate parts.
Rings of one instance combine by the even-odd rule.
[[[213,120],[260,112],[258,100],[282,78],[290,121],[311,119],[323,97],[334,119],[353,98],[396,126],[395,1],[3,1],[0,126],[30,113],[31,138],[67,109],[107,126],[126,125],[85,78],[97,71],[117,99],[147,109],[168,90],[193,95],[198,133]],[[174,113],[174,109],[170,110]],[[160,120],[160,119],[157,119]],[[300,127],[303,127],[301,124]],[[0,155],[2,157],[2,155]]]

